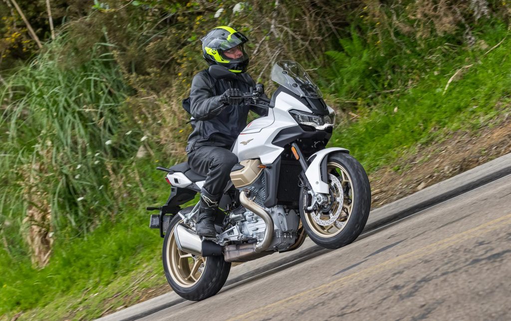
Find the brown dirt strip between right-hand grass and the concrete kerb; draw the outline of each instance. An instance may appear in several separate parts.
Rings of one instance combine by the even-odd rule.
[[[390,168],[370,175],[373,202],[378,208],[430,185],[468,171],[511,152],[511,118],[477,132],[454,132],[443,142],[425,147]]]

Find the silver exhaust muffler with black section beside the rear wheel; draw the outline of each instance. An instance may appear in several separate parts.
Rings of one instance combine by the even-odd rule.
[[[177,247],[183,252],[204,258],[223,255],[222,246],[209,240],[202,241],[197,233],[182,223],[177,224],[174,228],[174,238]]]

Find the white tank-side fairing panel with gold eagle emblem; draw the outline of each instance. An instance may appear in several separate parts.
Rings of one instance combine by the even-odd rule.
[[[245,127],[238,136],[233,152],[239,161],[261,158],[261,163],[271,164],[284,148],[272,144],[275,136],[284,128],[298,126],[289,110],[309,111],[309,108],[293,96],[281,92],[275,97],[275,108],[270,108],[268,116],[261,117]]]

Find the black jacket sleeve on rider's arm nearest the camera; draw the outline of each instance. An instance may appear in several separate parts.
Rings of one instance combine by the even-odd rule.
[[[208,120],[217,116],[225,104],[221,96],[213,95],[213,83],[201,74],[195,75],[190,90],[190,112],[196,120]]]

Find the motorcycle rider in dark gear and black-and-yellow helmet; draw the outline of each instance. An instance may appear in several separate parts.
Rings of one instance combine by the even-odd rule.
[[[218,202],[229,181],[230,171],[238,157],[230,151],[247,122],[249,110],[263,116],[267,109],[249,106],[242,96],[255,85],[246,74],[248,55],[244,44],[248,39],[227,26],[216,27],[202,39],[203,57],[209,65],[225,66],[236,79],[214,79],[207,70],[194,76],[189,103],[193,131],[188,137],[188,164],[206,176],[201,189],[197,234],[216,236],[214,221]],[[233,97],[234,96],[234,97]]]

